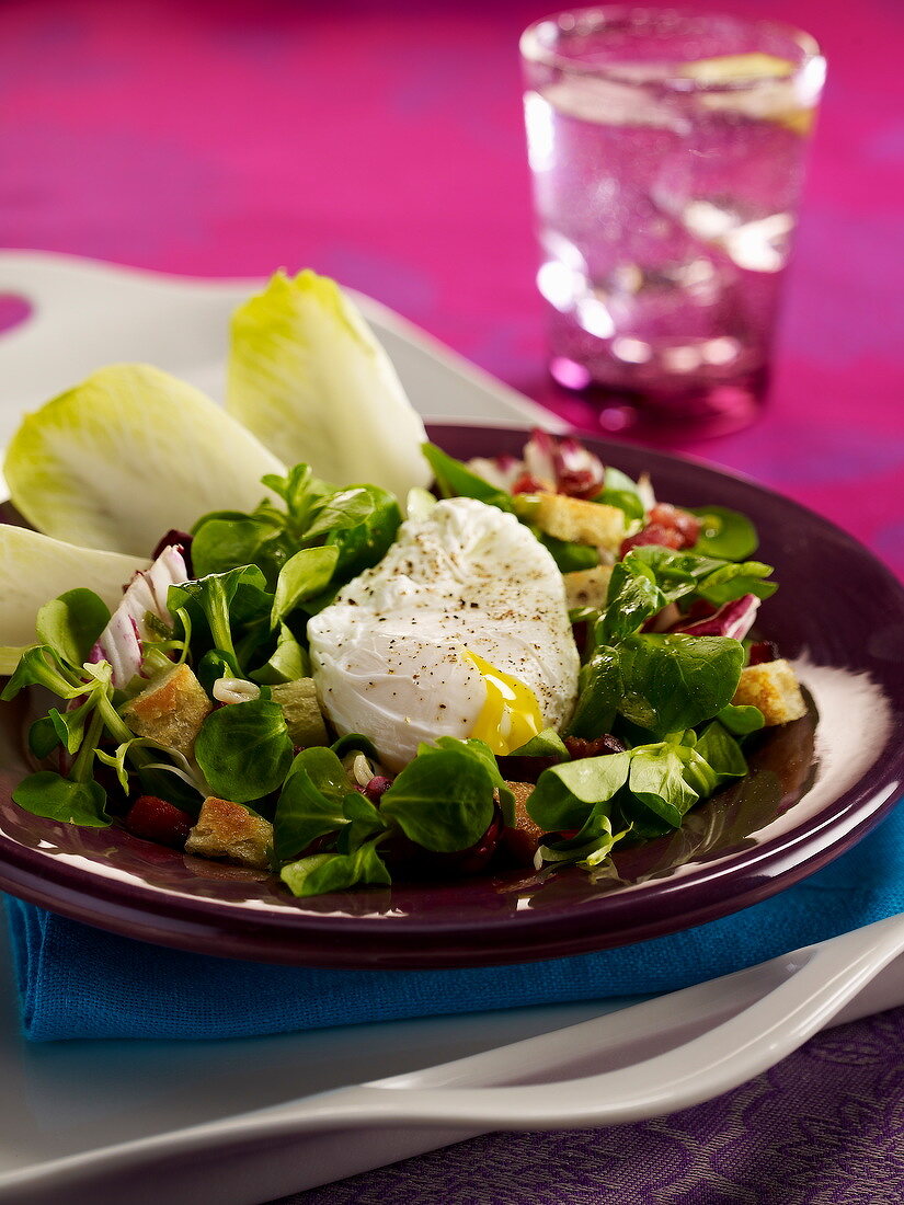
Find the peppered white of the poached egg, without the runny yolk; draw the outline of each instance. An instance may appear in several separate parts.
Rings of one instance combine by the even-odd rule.
[[[560,727],[580,659],[550,552],[504,511],[471,498],[409,519],[383,560],[307,625],[321,704],[340,734],[364,733],[400,769],[421,741],[471,734],[486,682],[477,653],[536,695]]]

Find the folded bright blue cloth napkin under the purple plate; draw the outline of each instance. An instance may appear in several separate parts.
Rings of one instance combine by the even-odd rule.
[[[721,921],[553,962],[335,971],[146,945],[7,897],[25,1035],[234,1038],[668,992],[904,911],[904,807],[824,870]]]

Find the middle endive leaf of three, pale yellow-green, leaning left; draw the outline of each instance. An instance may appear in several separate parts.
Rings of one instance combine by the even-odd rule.
[[[134,556],[207,511],[252,510],[262,476],[284,471],[202,393],[145,364],[100,369],[29,415],[4,465],[33,527]]]

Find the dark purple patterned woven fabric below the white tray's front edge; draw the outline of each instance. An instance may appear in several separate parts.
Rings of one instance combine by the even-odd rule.
[[[638,1125],[487,1134],[284,1205],[900,1205],[904,1009]]]

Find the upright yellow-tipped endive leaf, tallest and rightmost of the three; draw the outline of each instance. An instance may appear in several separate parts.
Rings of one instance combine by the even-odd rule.
[[[335,281],[277,272],[233,318],[227,408],[287,463],[404,499],[427,486],[424,425]]]

